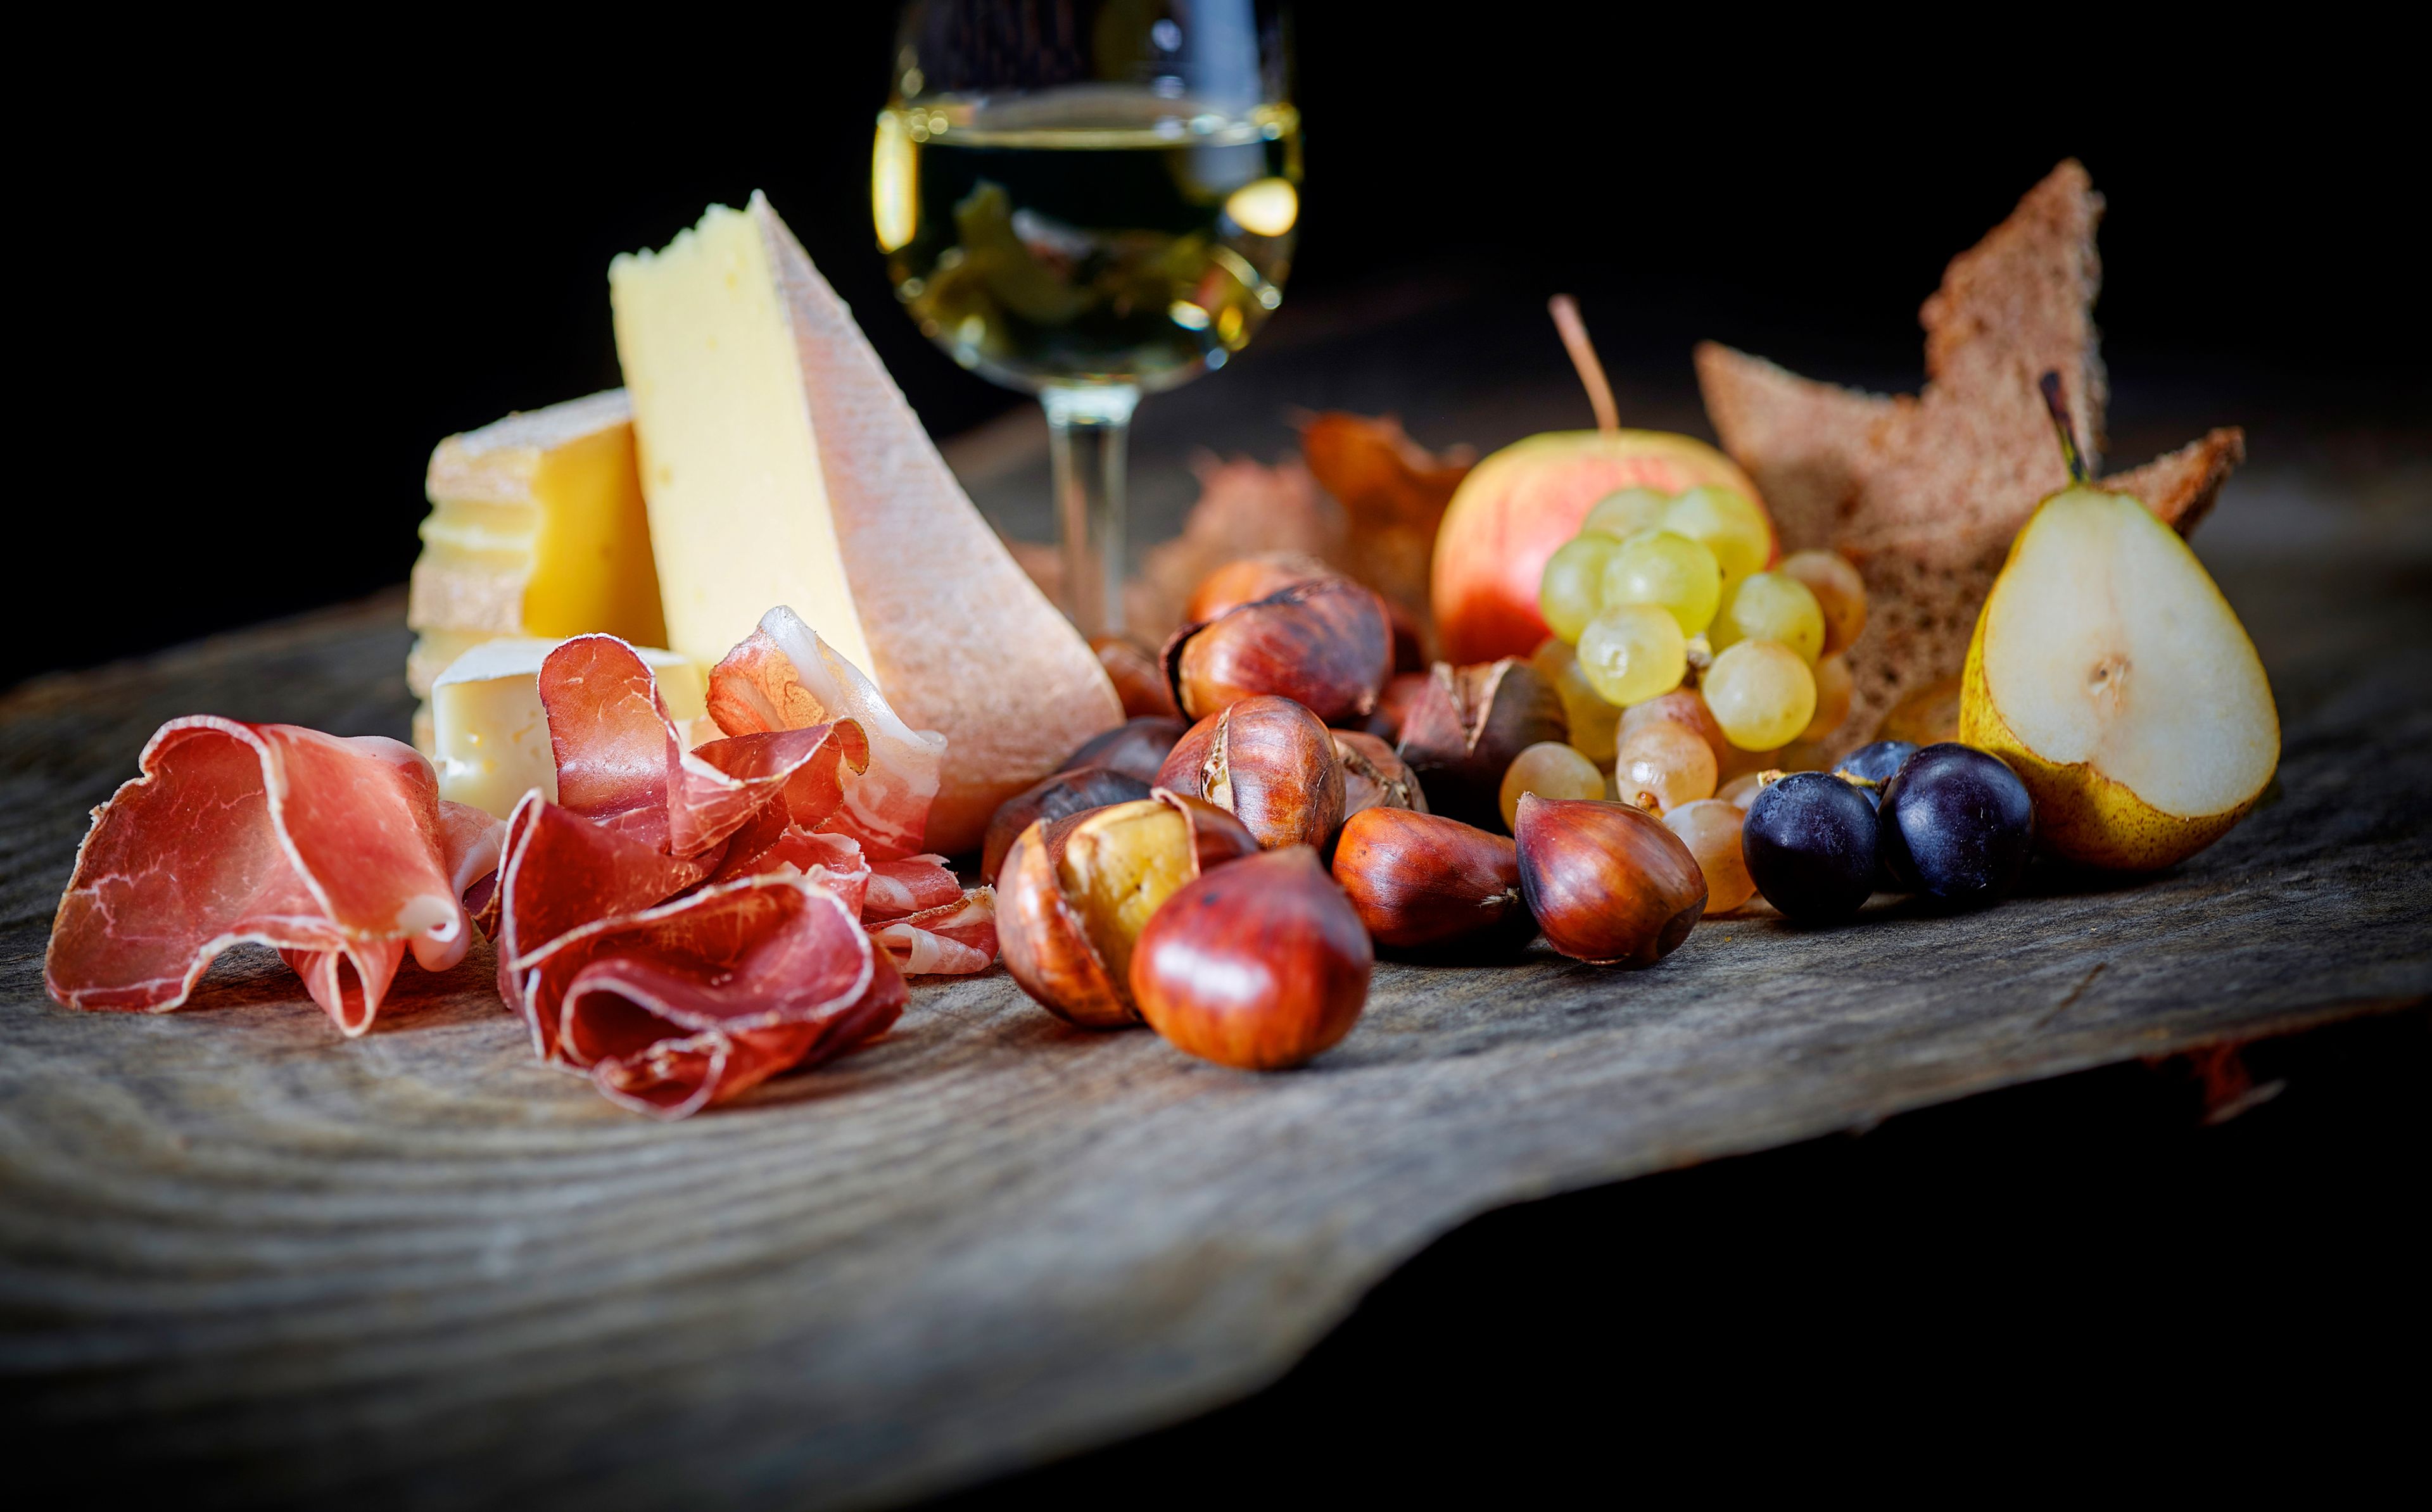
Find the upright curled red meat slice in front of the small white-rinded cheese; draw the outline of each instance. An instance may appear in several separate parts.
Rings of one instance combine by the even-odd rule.
[[[844,805],[849,775],[871,758],[858,727],[829,722],[688,749],[649,661],[613,634],[559,644],[540,664],[537,688],[557,802],[671,856],[708,853],[778,792],[817,807],[810,829]]]

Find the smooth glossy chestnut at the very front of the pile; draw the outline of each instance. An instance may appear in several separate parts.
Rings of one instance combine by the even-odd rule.
[[[1131,994],[1182,1050],[1274,1072],[1333,1048],[1367,1006],[1377,950],[1308,846],[1175,892],[1131,953]]]

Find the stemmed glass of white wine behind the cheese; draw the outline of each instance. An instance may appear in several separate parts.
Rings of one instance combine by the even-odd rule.
[[[895,297],[1048,413],[1065,610],[1124,627],[1124,440],[1141,394],[1248,345],[1301,197],[1279,5],[912,0],[871,148]]]

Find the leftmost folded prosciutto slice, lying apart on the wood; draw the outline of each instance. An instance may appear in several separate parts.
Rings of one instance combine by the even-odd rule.
[[[255,941],[360,1036],[406,950],[426,970],[465,958],[460,899],[501,826],[443,800],[411,746],[195,715],[139,768],[95,809],[51,924],[44,985],[71,1009],[175,1009]]]

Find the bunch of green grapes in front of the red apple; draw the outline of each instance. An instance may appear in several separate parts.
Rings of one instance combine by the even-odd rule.
[[[1547,562],[1537,608],[1554,639],[1537,664],[1561,693],[1571,746],[1608,771],[1617,797],[1632,800],[1637,783],[1673,807],[1710,797],[1717,773],[1656,737],[1632,763],[1622,710],[1683,693],[1698,703],[1683,722],[1722,737],[1717,761],[1822,739],[1848,717],[1841,651],[1865,630],[1858,569],[1831,552],[1768,569],[1770,552],[1766,513],[1732,489],[1622,489]],[[1683,690],[1693,668],[1698,688]]]

